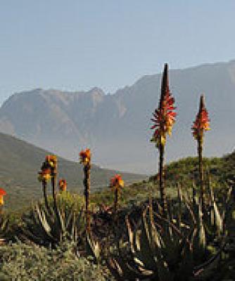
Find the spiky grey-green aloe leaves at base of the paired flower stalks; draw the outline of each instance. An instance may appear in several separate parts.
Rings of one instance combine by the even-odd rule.
[[[77,242],[84,233],[83,210],[79,214],[71,208],[65,212],[47,209],[44,204],[34,204],[30,214],[23,216],[20,240],[54,247],[63,240]]]

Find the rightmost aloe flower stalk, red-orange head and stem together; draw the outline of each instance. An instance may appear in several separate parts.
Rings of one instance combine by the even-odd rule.
[[[196,115],[196,120],[193,122],[192,133],[193,137],[198,143],[198,172],[200,178],[200,188],[201,188],[201,205],[203,214],[205,213],[205,188],[204,188],[204,179],[203,179],[203,139],[204,132],[210,130],[209,126],[210,119],[208,118],[208,111],[205,108],[205,98],[201,95],[198,114]]]

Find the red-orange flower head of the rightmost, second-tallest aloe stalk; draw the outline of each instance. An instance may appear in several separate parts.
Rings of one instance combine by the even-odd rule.
[[[210,130],[210,119],[208,117],[208,111],[205,108],[205,98],[203,95],[201,95],[198,114],[191,129],[193,137],[196,140],[203,138],[204,131]]]

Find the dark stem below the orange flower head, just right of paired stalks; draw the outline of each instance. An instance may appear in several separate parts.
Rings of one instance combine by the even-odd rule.
[[[86,230],[90,233],[91,230],[91,217],[90,217],[90,174],[91,164],[88,162],[84,165],[84,199],[85,199],[85,216],[86,216]]]

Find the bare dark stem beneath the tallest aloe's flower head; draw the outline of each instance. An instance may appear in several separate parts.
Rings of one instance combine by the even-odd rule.
[[[159,191],[160,191],[160,205],[162,207],[163,216],[165,217],[167,213],[167,202],[166,202],[164,176],[163,176],[164,152],[165,152],[165,145],[160,144],[159,145]]]

